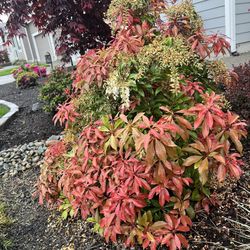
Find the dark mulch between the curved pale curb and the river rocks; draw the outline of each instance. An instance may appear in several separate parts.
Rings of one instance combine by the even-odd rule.
[[[15,83],[0,86],[0,99],[13,102],[20,108],[5,126],[0,127],[0,150],[47,139],[52,134],[61,132],[61,128],[53,126],[52,115],[45,114],[41,109],[32,111],[32,105],[39,102],[39,88],[40,85],[18,89]]]

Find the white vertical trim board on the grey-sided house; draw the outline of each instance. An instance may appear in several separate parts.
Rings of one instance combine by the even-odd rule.
[[[225,0],[225,33],[229,38],[231,53],[236,52],[235,0]]]

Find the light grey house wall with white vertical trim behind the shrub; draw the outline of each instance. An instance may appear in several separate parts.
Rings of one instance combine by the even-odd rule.
[[[208,33],[226,35],[231,52],[250,51],[250,0],[193,0]]]

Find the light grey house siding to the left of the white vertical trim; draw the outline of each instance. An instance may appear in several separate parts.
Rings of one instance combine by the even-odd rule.
[[[225,0],[193,0],[207,33],[225,34]]]

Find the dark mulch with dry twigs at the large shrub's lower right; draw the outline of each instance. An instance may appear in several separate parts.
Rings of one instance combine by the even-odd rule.
[[[245,153],[244,161],[245,173],[241,179],[237,182],[227,181],[217,189],[221,204],[213,208],[209,215],[204,212],[197,214],[189,236],[191,249],[250,249],[249,235],[248,239],[244,238],[242,227],[229,221],[250,226],[250,213],[245,213],[239,206],[245,204],[248,205],[245,208],[249,209],[250,205],[250,150]],[[243,244],[248,244],[248,248],[239,247]]]

